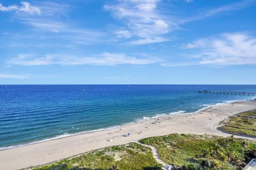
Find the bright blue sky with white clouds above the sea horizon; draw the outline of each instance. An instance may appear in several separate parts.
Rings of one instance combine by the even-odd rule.
[[[0,0],[0,84],[256,84],[256,1]]]

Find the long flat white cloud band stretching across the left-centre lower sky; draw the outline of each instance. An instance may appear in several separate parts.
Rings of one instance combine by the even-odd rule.
[[[126,56],[118,53],[101,53],[97,56],[73,56],[66,54],[47,54],[42,57],[33,58],[31,55],[20,54],[17,58],[9,60],[8,64],[17,64],[21,66],[43,66],[50,64],[66,65],[97,65],[97,66],[115,66],[117,64],[152,64],[160,62],[156,58],[137,58],[135,56]]]

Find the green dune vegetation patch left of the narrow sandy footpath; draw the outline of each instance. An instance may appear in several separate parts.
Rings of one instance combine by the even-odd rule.
[[[159,165],[153,157],[150,148],[143,147],[138,143],[118,145],[89,153],[81,156],[63,159],[53,164],[35,167],[34,170],[117,170],[117,169],[159,169]]]

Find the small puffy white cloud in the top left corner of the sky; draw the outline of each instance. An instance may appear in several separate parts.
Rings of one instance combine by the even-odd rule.
[[[0,3],[0,11],[24,12],[24,13],[29,13],[31,15],[41,14],[41,10],[39,9],[39,7],[31,5],[29,2],[21,2],[21,6],[17,6],[17,5],[3,6]]]

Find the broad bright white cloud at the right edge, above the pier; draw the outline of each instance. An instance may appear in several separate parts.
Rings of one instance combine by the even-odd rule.
[[[182,45],[197,52],[190,56],[197,61],[165,63],[162,66],[192,66],[211,64],[214,66],[256,64],[256,37],[246,33],[222,34],[218,37],[198,39]]]

